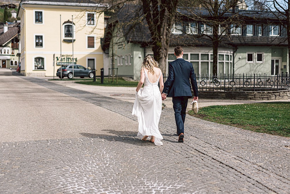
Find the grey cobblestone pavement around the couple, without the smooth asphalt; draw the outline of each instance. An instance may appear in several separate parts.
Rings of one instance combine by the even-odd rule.
[[[132,103],[23,77],[130,120]],[[118,122],[116,118],[115,122]],[[0,143],[0,193],[289,193],[290,139],[186,117],[177,143],[172,108],[162,112],[163,146],[135,137],[81,133],[78,138]]]

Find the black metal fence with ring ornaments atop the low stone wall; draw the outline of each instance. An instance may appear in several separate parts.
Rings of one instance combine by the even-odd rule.
[[[164,82],[168,75],[164,75]],[[289,74],[201,74],[196,75],[199,91],[271,91],[289,90]]]

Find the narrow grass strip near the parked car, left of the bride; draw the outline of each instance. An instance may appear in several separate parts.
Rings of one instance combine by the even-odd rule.
[[[108,81],[108,78],[104,79],[104,83],[101,83],[101,79],[97,79],[96,82],[92,81],[76,81],[75,83],[81,83],[86,85],[94,85],[94,86],[123,86],[123,87],[137,87],[137,81],[125,81],[123,78],[118,78],[118,83],[116,79],[112,82],[112,79]]]

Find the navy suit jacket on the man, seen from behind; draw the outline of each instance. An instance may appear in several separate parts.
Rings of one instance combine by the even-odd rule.
[[[198,96],[197,82],[191,63],[179,58],[169,63],[168,70],[168,79],[164,83],[163,93],[167,94],[168,97],[188,96],[191,98],[191,81],[193,93]]]

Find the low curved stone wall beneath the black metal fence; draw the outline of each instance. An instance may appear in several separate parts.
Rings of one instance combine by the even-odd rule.
[[[199,91],[198,97],[210,99],[287,100],[290,99],[290,91]]]

